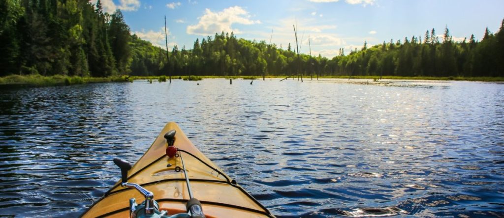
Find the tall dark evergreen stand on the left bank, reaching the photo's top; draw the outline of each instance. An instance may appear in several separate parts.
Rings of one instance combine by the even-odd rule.
[[[98,0],[2,0],[0,75],[106,77],[131,72],[131,35],[122,13]]]

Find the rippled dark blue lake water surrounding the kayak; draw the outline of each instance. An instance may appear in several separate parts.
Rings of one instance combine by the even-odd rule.
[[[504,216],[504,84],[345,81],[4,88],[0,216],[78,216],[169,121],[278,216]]]

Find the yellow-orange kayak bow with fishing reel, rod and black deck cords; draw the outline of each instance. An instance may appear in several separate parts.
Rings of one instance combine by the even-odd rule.
[[[114,163],[121,180],[81,217],[274,217],[175,123],[166,124],[134,166]]]

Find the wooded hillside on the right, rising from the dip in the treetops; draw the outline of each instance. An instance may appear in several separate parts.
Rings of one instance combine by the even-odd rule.
[[[375,45],[369,49],[340,55],[328,62],[331,75],[397,75],[435,77],[497,77],[504,76],[502,46],[504,40],[485,30],[485,37],[477,42],[454,42],[445,28],[443,42],[435,30],[427,31],[423,43],[412,37],[404,43]]]

